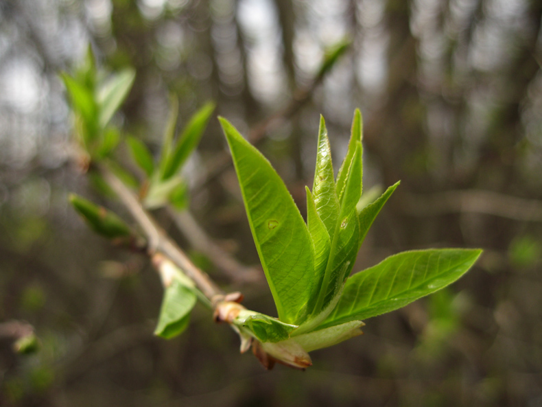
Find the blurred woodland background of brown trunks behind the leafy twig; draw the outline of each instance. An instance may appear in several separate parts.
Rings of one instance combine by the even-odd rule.
[[[30,323],[40,340],[19,355],[0,329],[0,405],[542,406],[541,17],[537,0],[0,1],[0,325]],[[154,337],[162,288],[147,259],[93,235],[67,202],[77,191],[119,209],[69,160],[58,73],[89,44],[100,66],[137,70],[116,117],[126,132],[158,152],[170,93],[181,125],[214,100],[259,135],[302,212],[318,115],[338,167],[360,107],[365,187],[402,183],[355,270],[431,246],[484,255],[446,290],[314,352],[305,373],[239,355],[203,307],[179,338]],[[191,213],[258,266],[235,173],[213,173],[224,150],[213,119],[185,170]],[[225,275],[156,216],[226,290],[274,312],[263,273]]]

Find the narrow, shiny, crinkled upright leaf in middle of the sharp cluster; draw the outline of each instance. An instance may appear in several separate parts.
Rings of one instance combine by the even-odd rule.
[[[322,116],[320,116],[320,130],[318,130],[318,152],[316,154],[312,196],[316,212],[324,222],[328,235],[333,238],[339,216],[339,200],[335,191],[335,180],[333,179],[331,148],[327,138],[326,124]]]

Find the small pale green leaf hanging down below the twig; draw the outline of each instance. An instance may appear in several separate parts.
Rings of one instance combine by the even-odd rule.
[[[154,334],[165,339],[180,335],[188,326],[196,294],[174,279],[165,289],[158,325]]]

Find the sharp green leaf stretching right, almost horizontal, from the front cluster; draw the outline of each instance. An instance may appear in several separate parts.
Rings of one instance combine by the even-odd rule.
[[[482,253],[478,249],[429,249],[393,255],[346,281],[329,327],[377,316],[444,288],[464,275]]]

